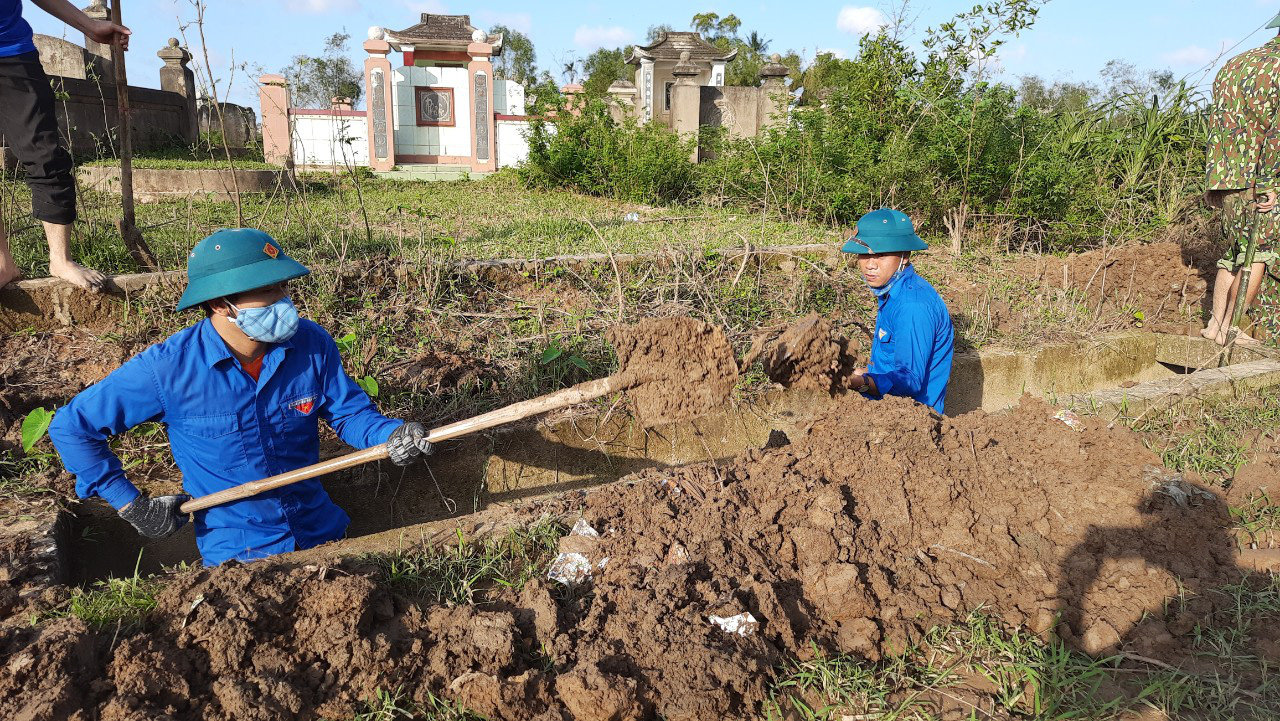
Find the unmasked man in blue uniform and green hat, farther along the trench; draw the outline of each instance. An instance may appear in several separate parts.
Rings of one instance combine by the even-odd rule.
[[[840,250],[858,255],[879,304],[869,369],[854,374],[852,388],[874,398],[906,396],[941,414],[955,330],[942,296],[911,265],[911,251],[927,247],[905,213],[882,207],[863,215]]]

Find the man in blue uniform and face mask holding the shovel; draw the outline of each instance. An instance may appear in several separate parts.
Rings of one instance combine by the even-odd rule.
[[[164,423],[183,489],[205,496],[319,461],[319,421],[348,444],[388,443],[407,465],[430,453],[419,423],[389,419],[346,374],[338,346],[298,318],[288,282],[308,270],[261,231],[218,231],[187,261],[178,310],[206,318],[142,351],[60,409],[49,435],[81,498],[101,497],[138,533],[186,523],[187,496],[143,496],[108,441]],[[250,561],[342,538],[349,519],[319,480],[303,480],[195,514],[205,565]]]

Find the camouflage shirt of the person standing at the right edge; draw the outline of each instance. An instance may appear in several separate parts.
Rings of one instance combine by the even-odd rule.
[[[1226,61],[1213,81],[1206,190],[1253,184],[1270,188],[1280,175],[1280,37]]]

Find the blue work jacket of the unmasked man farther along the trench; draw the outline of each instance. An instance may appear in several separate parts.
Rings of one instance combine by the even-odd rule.
[[[878,300],[867,375],[882,396],[906,396],[941,414],[956,337],[947,305],[913,265]]]

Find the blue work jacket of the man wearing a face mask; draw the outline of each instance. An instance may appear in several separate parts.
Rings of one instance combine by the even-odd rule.
[[[76,493],[119,510],[138,489],[108,446],[113,434],[164,423],[183,489],[198,497],[317,462],[320,419],[356,448],[385,442],[402,423],[378,412],[315,323],[302,320],[293,338],[271,346],[255,382],[205,319],[86,388],[58,411],[49,435],[76,474]],[[351,521],[317,479],[195,516],[206,566],[310,548],[342,538]]]

